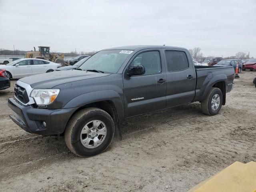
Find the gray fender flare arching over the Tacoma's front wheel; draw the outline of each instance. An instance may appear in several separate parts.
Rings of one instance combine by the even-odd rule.
[[[100,101],[111,101],[114,104],[119,120],[124,119],[123,101],[118,92],[114,90],[102,90],[82,94],[70,100],[63,108],[80,108]]]

